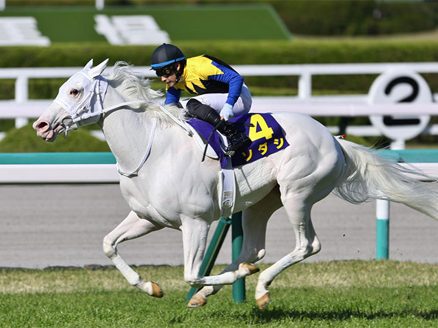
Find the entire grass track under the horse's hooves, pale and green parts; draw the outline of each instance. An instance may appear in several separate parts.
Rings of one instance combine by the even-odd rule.
[[[297,264],[274,280],[264,310],[253,298],[258,274],[246,279],[245,303],[233,303],[225,286],[205,307],[188,309],[182,267],[137,270],[162,286],[162,299],[114,268],[2,269],[0,327],[438,327],[437,264]]]

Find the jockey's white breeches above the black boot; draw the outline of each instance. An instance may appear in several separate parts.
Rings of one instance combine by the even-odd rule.
[[[204,105],[215,109],[218,114],[220,113],[222,107],[224,107],[227,98],[228,94],[201,94],[199,96],[193,97],[193,99],[196,99]],[[183,107],[185,108],[185,105],[190,99],[191,98],[182,99],[181,105],[183,105]],[[246,85],[244,84],[242,85],[242,93],[237,99],[237,102],[235,102],[235,105],[233,106],[234,115],[237,116],[248,113],[248,111],[251,109],[251,105],[253,105],[253,99],[251,98],[251,93],[248,87],[246,87]]]

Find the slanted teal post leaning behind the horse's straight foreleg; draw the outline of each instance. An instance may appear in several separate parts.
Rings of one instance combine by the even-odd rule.
[[[210,245],[205,252],[203,263],[201,264],[201,268],[199,269],[199,275],[209,275],[211,269],[213,269],[214,262],[216,262],[216,258],[218,257],[220,247],[222,247],[222,243],[224,243],[224,239],[227,236],[227,232],[231,225],[231,219],[228,217],[221,217],[216,230],[214,231],[213,236],[211,237]],[[190,299],[198,292],[200,288],[190,288],[190,291],[185,297],[185,301],[188,302]]]

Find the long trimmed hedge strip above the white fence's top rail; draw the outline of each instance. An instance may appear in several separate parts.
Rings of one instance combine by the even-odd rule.
[[[229,64],[309,64],[438,61],[438,40],[294,40],[179,42],[188,57],[209,53]],[[0,67],[82,66],[90,58],[149,65],[155,46],[62,44],[0,48]]]

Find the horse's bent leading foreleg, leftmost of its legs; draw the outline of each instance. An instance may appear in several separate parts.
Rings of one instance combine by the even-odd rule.
[[[141,219],[131,211],[125,220],[103,238],[103,252],[112,260],[123,277],[127,279],[129,284],[140,288],[153,297],[163,297],[162,289],[155,282],[144,282],[140,275],[133,271],[125,260],[118,255],[117,245],[123,241],[129,241],[162,228],[162,226],[156,226],[146,219]]]

